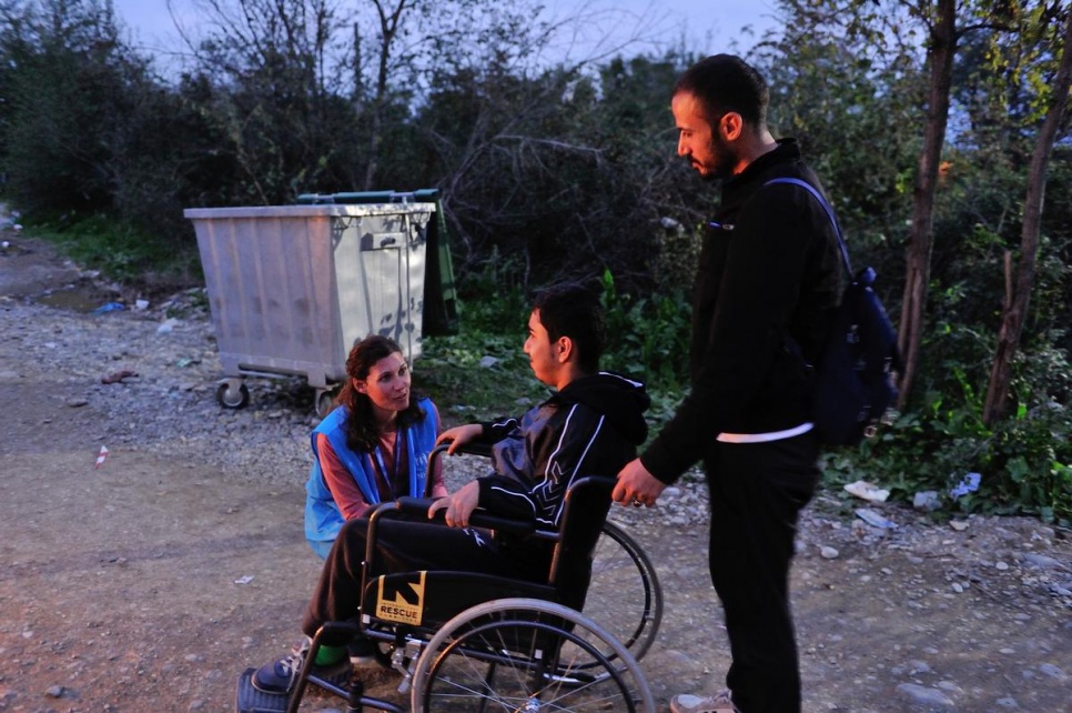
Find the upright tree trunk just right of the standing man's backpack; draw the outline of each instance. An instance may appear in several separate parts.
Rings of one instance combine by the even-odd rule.
[[[930,91],[927,101],[927,124],[920,153],[919,173],[912,190],[912,225],[908,247],[908,267],[901,321],[898,325],[898,348],[904,361],[900,375],[898,408],[903,409],[912,391],[919,366],[920,342],[923,338],[923,315],[927,288],[931,273],[931,252],[934,245],[934,191],[945,125],[949,121],[949,93],[952,86],[953,57],[957,53],[957,2],[938,0],[938,19],[930,29],[927,50],[930,63]]]

